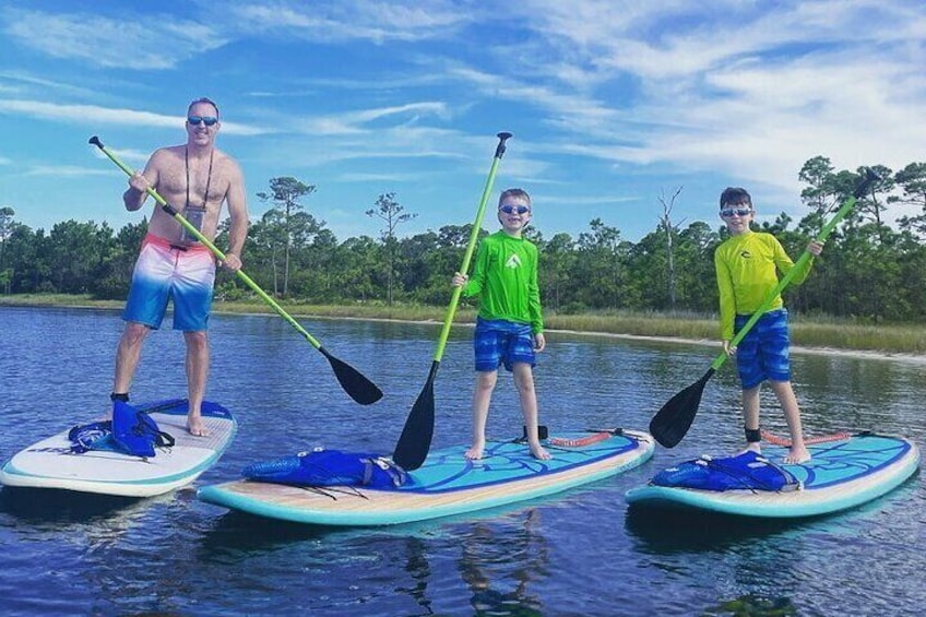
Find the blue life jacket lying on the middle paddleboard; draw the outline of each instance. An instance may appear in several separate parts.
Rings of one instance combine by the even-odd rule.
[[[399,488],[408,479],[405,470],[384,456],[323,448],[252,463],[241,474],[257,482],[294,486]]]

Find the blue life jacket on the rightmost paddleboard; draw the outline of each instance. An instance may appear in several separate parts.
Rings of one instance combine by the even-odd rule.
[[[656,486],[700,488],[702,490],[796,490],[800,483],[790,471],[761,454],[747,450],[736,456],[701,456],[657,473]]]

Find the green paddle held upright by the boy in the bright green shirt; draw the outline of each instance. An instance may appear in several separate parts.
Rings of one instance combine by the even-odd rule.
[[[504,155],[504,142],[510,138],[511,133],[498,133],[498,146],[495,150],[489,176],[486,179],[486,188],[483,190],[483,199],[479,201],[479,209],[476,211],[476,221],[473,223],[470,242],[466,245],[466,252],[463,254],[463,264],[460,266],[462,274],[465,274],[470,270],[470,260],[473,258],[473,249],[476,247],[476,239],[479,237],[479,229],[483,224],[483,217],[486,214],[486,203],[491,193],[496,169],[498,169],[498,164]],[[418,394],[418,399],[408,413],[405,427],[402,429],[402,435],[399,437],[399,443],[396,443],[395,452],[392,455],[392,460],[397,465],[409,472],[422,466],[431,447],[435,423],[434,380],[437,376],[437,369],[440,366],[440,359],[443,357],[447,337],[450,335],[450,325],[453,323],[453,316],[456,313],[456,304],[460,301],[460,295],[462,293],[463,287],[453,288],[453,295],[450,299],[450,306],[447,309],[447,316],[443,319],[443,329],[440,331],[440,337],[437,342],[437,351],[434,355],[431,369],[428,372],[428,379],[425,381],[422,393]]]

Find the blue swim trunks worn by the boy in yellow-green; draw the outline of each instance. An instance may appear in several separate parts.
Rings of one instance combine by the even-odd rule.
[[[749,317],[737,315],[734,330],[739,332]],[[756,388],[767,379],[791,381],[790,346],[787,310],[776,309],[760,317],[736,347],[736,367],[743,389]]]

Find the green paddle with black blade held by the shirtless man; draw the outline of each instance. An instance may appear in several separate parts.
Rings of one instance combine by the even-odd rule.
[[[103,145],[103,143],[99,141],[99,138],[97,138],[96,135],[90,138],[90,143],[102,150],[103,153],[108,156],[109,159],[115,163],[120,169],[122,169],[122,171],[124,171],[128,176],[131,177],[134,174],[132,169],[127,167],[121,161],[116,157],[116,155],[109,152],[109,149]],[[167,201],[163,197],[161,197],[157,191],[155,191],[154,189],[149,189],[147,193],[153,197],[155,201],[157,201],[157,203],[161,204],[161,209],[164,210],[164,212],[176,218],[177,222],[185,229],[187,229],[187,232],[189,232],[195,239],[198,239],[205,247],[207,247],[209,250],[211,250],[215,254],[215,257],[217,257],[222,261],[225,260],[225,254],[221,250],[218,250],[218,248],[214,244],[212,244],[209,238],[203,236],[202,233],[200,233],[200,230],[195,228],[195,226],[193,226],[189,221],[183,218],[183,216],[179,212],[177,212],[174,206],[167,203]],[[306,330],[299,324],[298,321],[293,319],[289,313],[283,310],[283,307],[276,304],[276,300],[270,297],[266,292],[261,289],[260,286],[254,283],[250,276],[245,274],[245,272],[241,270],[238,270],[237,272],[235,272],[235,274],[237,274],[238,278],[244,281],[251,289],[253,289],[254,293],[260,296],[263,301],[270,305],[271,308],[273,308],[273,310],[275,310],[276,313],[280,315],[280,317],[289,322],[289,324],[295,328],[299,332],[299,334],[305,336],[306,340],[311,343],[316,349],[321,352],[321,354],[325,358],[328,358],[328,361],[331,364],[331,368],[334,369],[334,376],[337,378],[337,381],[341,383],[341,387],[344,388],[344,391],[347,392],[347,394],[349,394],[352,399],[354,399],[361,405],[369,405],[382,399],[382,391],[377,388],[376,383],[364,377],[357,369],[355,369],[351,365],[331,355],[328,349],[321,346],[321,343],[319,343],[311,334],[306,332]]]

